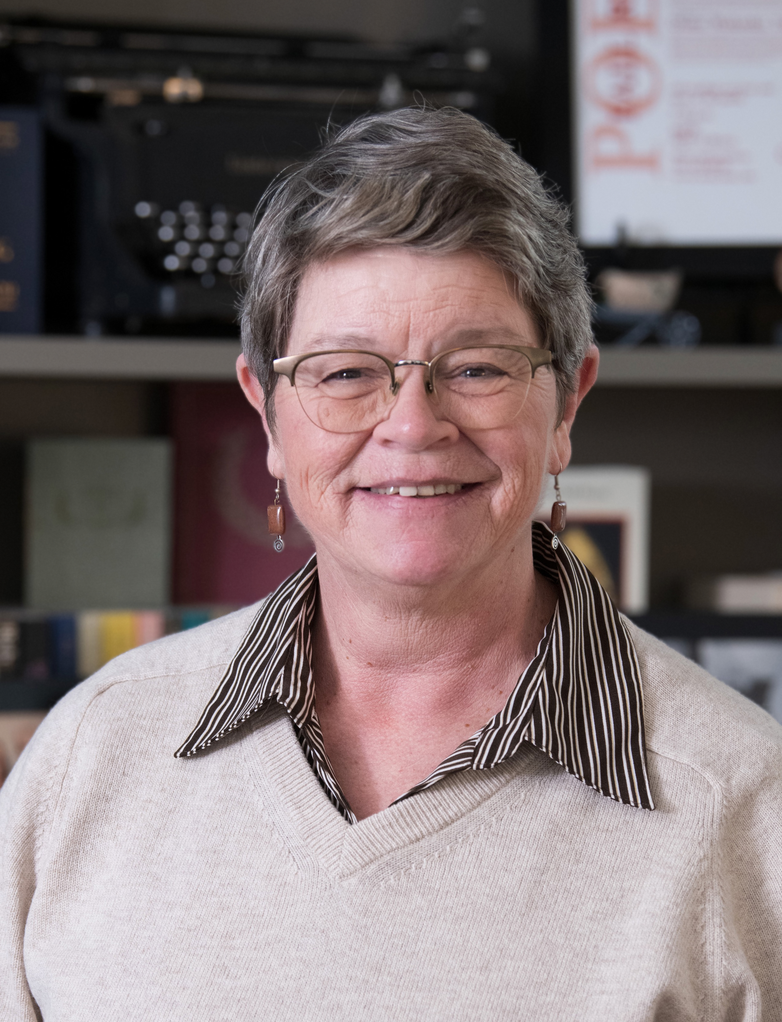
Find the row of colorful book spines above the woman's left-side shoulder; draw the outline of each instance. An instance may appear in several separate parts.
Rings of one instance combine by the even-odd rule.
[[[229,609],[0,612],[0,681],[75,683],[129,649],[195,628]]]

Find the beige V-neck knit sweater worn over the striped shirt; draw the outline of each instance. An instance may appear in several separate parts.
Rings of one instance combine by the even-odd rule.
[[[2,1022],[780,1022],[782,729],[633,629],[653,812],[524,747],[350,826],[275,708],[175,759],[254,609],[126,654],[0,795]]]

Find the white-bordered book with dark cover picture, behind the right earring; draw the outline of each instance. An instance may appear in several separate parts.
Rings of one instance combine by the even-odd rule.
[[[617,606],[642,613],[649,603],[650,473],[625,465],[577,465],[559,476],[567,504],[565,543]],[[555,500],[547,477],[535,517],[549,523]]]

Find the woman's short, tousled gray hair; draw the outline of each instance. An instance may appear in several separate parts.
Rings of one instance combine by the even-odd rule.
[[[407,107],[327,135],[268,189],[244,261],[244,358],[271,402],[307,269],[348,248],[471,250],[515,281],[554,356],[560,405],[592,340],[584,260],[566,208],[497,133],[467,113]]]

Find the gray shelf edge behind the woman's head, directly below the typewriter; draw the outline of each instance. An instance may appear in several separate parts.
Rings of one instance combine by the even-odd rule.
[[[105,380],[232,380],[236,340],[144,337],[0,338],[0,376]],[[611,349],[600,387],[782,387],[782,346]]]

